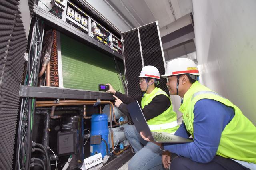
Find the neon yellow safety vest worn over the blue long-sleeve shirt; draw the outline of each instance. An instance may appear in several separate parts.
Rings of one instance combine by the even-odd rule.
[[[234,109],[235,115],[222,131],[216,154],[256,164],[256,127],[231,101],[201,85],[198,81],[188,89],[179,109],[183,113],[187,131],[194,137],[193,110],[194,105],[200,99],[213,99]]]

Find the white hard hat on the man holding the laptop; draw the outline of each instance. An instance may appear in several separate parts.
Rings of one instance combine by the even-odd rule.
[[[188,58],[177,58],[167,63],[166,71],[161,77],[167,78],[172,75],[192,74],[199,75],[196,63]]]

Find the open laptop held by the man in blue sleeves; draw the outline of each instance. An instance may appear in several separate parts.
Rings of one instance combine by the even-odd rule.
[[[188,143],[193,142],[190,139],[182,138],[174,134],[169,134],[166,132],[151,132],[148,127],[147,121],[142,113],[138,101],[134,101],[127,105],[127,109],[130,113],[130,117],[136,127],[138,132],[147,137],[150,141],[159,142],[159,143]]]

